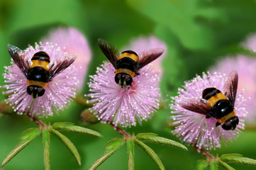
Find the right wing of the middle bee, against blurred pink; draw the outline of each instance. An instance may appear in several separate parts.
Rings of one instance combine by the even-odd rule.
[[[164,52],[165,52],[165,50],[162,49],[162,48],[156,48],[156,49],[151,49],[151,50],[141,52],[140,55],[139,55],[139,61],[138,61],[138,64],[137,64],[137,67],[136,67],[135,71],[138,71],[139,69],[141,69],[145,65],[147,65],[150,62],[156,60]]]

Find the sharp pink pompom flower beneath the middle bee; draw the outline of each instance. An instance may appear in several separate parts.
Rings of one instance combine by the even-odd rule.
[[[114,125],[130,127],[136,125],[136,120],[148,120],[158,108],[159,74],[152,72],[150,64],[140,69],[140,75],[133,78],[130,88],[121,88],[114,81],[115,69],[112,64],[105,62],[97,67],[96,75],[91,76],[89,88],[92,92],[87,95],[94,103],[91,111],[103,123],[113,122]]]

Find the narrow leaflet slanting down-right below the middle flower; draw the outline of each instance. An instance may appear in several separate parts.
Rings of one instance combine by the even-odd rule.
[[[153,159],[155,164],[157,164],[159,169],[161,169],[161,170],[165,169],[165,166],[162,164],[158,155],[150,147],[148,147],[147,145],[145,145],[143,142],[141,142],[138,139],[135,139],[135,142],[139,147],[141,147],[142,149],[145,150],[145,152]]]

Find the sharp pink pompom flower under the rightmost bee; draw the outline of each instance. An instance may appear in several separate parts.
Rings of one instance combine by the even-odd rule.
[[[202,77],[196,76],[191,81],[186,81],[182,89],[179,89],[178,96],[172,98],[173,125],[177,125],[173,130],[174,135],[180,137],[184,142],[193,145],[200,151],[204,149],[215,149],[221,147],[221,141],[226,142],[235,140],[241,130],[244,129],[245,99],[241,91],[238,91],[235,101],[235,113],[239,118],[239,124],[235,130],[223,130],[221,125],[216,127],[216,118],[206,118],[206,115],[195,113],[182,108],[180,103],[193,99],[200,101],[202,92],[208,87],[215,87],[223,92],[226,74],[203,74]],[[239,80],[238,80],[239,81]],[[199,102],[199,104],[204,104]]]

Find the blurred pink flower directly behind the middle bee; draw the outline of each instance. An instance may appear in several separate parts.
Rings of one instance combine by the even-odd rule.
[[[139,37],[137,39],[133,39],[130,41],[130,45],[123,47],[123,51],[126,50],[133,50],[137,54],[140,54],[143,51],[151,50],[154,48],[162,48],[165,49],[165,52],[159,57],[157,60],[152,62],[152,69],[155,69],[155,71],[160,71],[162,75],[162,66],[161,62],[163,58],[165,57],[167,46],[165,45],[165,42],[162,42],[158,38],[156,38],[154,35],[150,35],[148,37]]]

